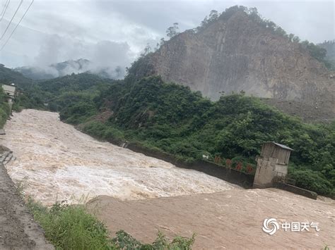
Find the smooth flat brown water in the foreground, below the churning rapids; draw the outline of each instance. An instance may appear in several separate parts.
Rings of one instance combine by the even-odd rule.
[[[335,201],[315,201],[280,189],[232,189],[140,201],[100,196],[89,203],[114,235],[120,228],[143,242],[196,233],[194,249],[335,249]],[[266,218],[319,223],[319,232],[262,231]]]

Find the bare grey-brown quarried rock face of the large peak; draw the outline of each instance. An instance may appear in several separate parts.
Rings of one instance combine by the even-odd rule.
[[[200,32],[183,32],[146,60],[161,75],[217,100],[221,92],[302,101],[335,114],[335,78],[299,44],[237,11]]]

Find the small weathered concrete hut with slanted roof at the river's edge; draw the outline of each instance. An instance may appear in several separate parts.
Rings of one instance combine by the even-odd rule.
[[[254,175],[254,187],[271,187],[275,179],[283,179],[288,173],[290,159],[288,146],[276,142],[266,142],[261,148],[261,156],[256,158],[257,169]]]

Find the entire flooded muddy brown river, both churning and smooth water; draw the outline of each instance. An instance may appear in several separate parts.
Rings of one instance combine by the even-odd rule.
[[[16,161],[6,168],[25,194],[51,205],[83,202],[110,232],[124,229],[142,242],[196,233],[194,249],[323,249],[335,246],[334,200],[317,201],[279,189],[240,189],[216,177],[138,154],[61,123],[57,113],[24,110],[5,127],[0,144]],[[190,195],[183,195],[190,194]],[[182,195],[182,196],[181,196]],[[147,199],[157,198],[157,199]],[[317,223],[319,231],[275,235],[264,219]]]

